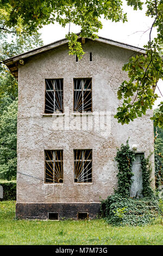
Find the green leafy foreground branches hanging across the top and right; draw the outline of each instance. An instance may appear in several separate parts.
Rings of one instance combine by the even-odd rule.
[[[158,95],[154,93],[158,80],[162,79],[162,34],[163,34],[163,1],[162,0],[126,0],[134,10],[146,7],[146,15],[152,17],[149,40],[145,45],[146,54],[138,54],[129,59],[123,66],[128,72],[128,80],[123,81],[118,89],[118,99],[123,100],[117,108],[118,122],[125,124],[146,114],[151,109]],[[102,28],[101,17],[111,21],[127,21],[123,13],[121,0],[0,0],[1,31],[32,35],[37,29],[49,23],[58,22],[62,27],[69,25],[66,38],[69,41],[70,54],[82,58],[84,51],[76,34],[70,32],[71,23],[81,27],[83,38],[97,38]],[[157,29],[153,40],[152,29]],[[163,126],[162,106],[153,118]]]

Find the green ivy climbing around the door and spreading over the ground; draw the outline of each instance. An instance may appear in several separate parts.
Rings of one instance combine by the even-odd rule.
[[[150,155],[149,155],[150,157]],[[149,157],[142,157],[143,198],[130,198],[132,163],[135,154],[130,150],[128,141],[117,150],[115,160],[118,163],[118,189],[115,194],[102,200],[100,214],[112,225],[146,225],[158,216],[159,200],[151,187],[151,164]]]

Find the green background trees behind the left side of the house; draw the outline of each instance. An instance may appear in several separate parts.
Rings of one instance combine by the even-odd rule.
[[[5,2],[5,1],[3,1]],[[4,4],[5,5],[5,4]],[[42,46],[40,34],[3,27],[7,9],[0,1],[0,179],[16,178],[17,80],[2,60]]]

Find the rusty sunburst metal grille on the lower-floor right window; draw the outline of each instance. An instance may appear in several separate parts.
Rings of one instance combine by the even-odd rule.
[[[92,182],[92,149],[74,150],[74,182]]]

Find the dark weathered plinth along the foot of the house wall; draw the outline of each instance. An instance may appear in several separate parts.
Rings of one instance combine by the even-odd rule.
[[[58,220],[78,220],[78,212],[87,212],[89,218],[97,218],[101,203],[17,203],[16,217],[48,219],[49,212],[58,213]]]

